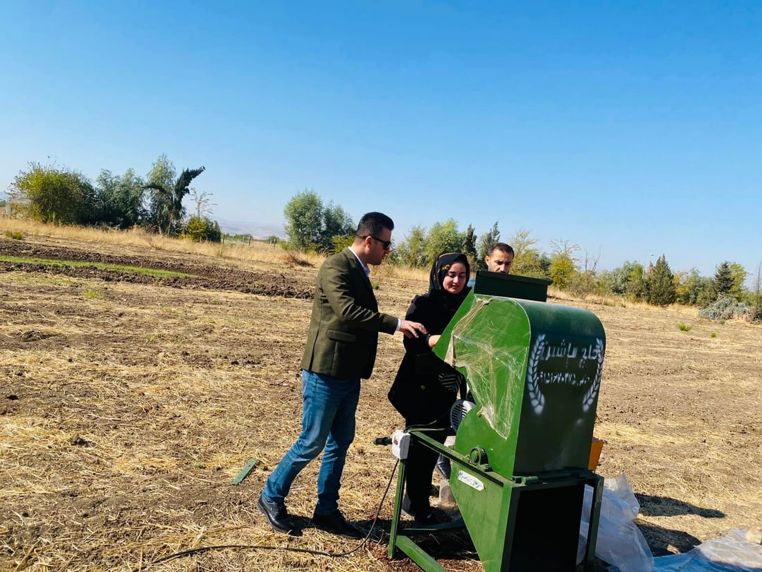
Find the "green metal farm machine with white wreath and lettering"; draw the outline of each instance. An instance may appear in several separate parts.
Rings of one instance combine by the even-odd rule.
[[[594,569],[603,478],[588,468],[606,336],[587,310],[547,304],[547,281],[477,272],[475,284],[434,352],[466,377],[472,407],[455,445],[436,429],[409,429],[450,458],[462,522],[400,525],[400,464],[389,558],[445,570],[415,541],[465,526],[485,572],[577,566],[584,486],[593,487],[584,570]],[[439,429],[441,432],[441,429]]]

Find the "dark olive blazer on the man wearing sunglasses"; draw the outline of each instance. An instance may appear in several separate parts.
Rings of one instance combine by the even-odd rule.
[[[351,249],[328,256],[315,279],[302,368],[339,379],[370,378],[378,334],[395,333],[397,323],[379,313],[370,280]]]

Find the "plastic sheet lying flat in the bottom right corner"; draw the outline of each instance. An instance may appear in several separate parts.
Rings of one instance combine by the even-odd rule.
[[[762,545],[746,540],[743,530],[708,540],[685,554],[654,558],[654,572],[760,572]]]

